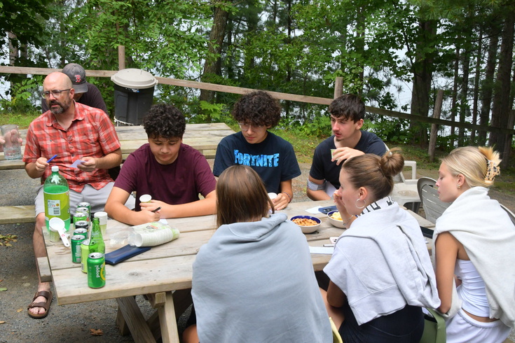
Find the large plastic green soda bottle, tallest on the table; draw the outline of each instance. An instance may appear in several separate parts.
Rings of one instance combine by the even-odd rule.
[[[59,174],[59,167],[52,166],[52,174],[46,178],[43,185],[43,200],[45,204],[46,230],[50,230],[48,221],[57,217],[64,221],[64,228],[70,228],[70,189],[68,181]]]

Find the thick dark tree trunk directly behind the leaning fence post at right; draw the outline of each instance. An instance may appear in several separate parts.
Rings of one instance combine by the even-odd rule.
[[[411,114],[425,116],[430,109],[430,93],[434,59],[434,35],[437,31],[437,22],[434,20],[420,21],[419,35],[413,64],[413,92],[411,94]],[[430,52],[427,52],[427,51]],[[418,123],[410,123],[412,132],[418,132],[413,137],[413,143],[427,144],[427,130]],[[418,138],[418,139],[417,139]]]

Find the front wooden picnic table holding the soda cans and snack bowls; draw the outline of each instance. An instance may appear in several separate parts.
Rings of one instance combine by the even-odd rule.
[[[331,206],[330,200],[321,202],[292,202],[281,212],[291,216],[307,214],[306,209]],[[413,214],[413,213],[412,213]],[[431,223],[413,214],[420,225],[431,227]],[[322,225],[313,234],[305,235],[310,246],[323,246],[329,243],[329,237],[338,237],[343,229],[335,228],[327,215],[314,214],[322,219]],[[132,333],[135,342],[155,342],[162,337],[163,342],[179,342],[177,331],[178,316],[191,304],[192,265],[200,246],[207,243],[217,226],[215,216],[168,219],[167,222],[179,228],[178,239],[150,251],[125,260],[118,265],[106,265],[106,286],[89,288],[87,275],[81,272],[81,266],[71,262],[70,248],[62,242],[52,243],[47,230],[43,228],[48,260],[39,259],[40,270],[48,272],[53,279],[57,303],[75,304],[96,300],[116,299],[118,301],[117,323],[121,333]],[[129,225],[109,220],[107,224],[106,252],[114,251],[125,242],[114,242],[122,232],[127,232]],[[299,229],[300,230],[300,229]],[[125,244],[124,244],[125,243]],[[315,271],[322,270],[331,255],[312,253]],[[135,295],[147,295],[156,313],[145,321]],[[160,330],[156,324],[160,325]]]

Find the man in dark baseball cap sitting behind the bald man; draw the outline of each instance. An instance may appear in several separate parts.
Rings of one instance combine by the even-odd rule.
[[[101,109],[107,113],[107,106],[104,98],[102,98],[102,94],[100,94],[97,86],[86,81],[85,70],[80,64],[69,63],[64,66],[62,73],[67,74],[71,80],[72,87],[75,90],[74,100],[76,102]],[[42,113],[48,111],[45,99],[41,101],[41,111]]]

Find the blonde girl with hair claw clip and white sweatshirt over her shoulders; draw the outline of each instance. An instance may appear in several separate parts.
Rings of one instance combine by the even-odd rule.
[[[441,161],[434,256],[447,342],[502,342],[515,327],[515,227],[488,187],[500,174],[492,148],[457,148]],[[458,287],[456,287],[458,286]]]

